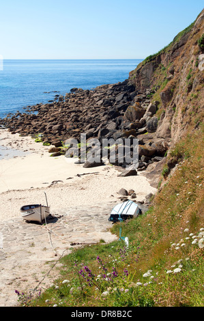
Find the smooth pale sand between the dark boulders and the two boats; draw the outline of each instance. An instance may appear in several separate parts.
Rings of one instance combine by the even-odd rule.
[[[0,158],[1,220],[19,217],[23,205],[46,204],[44,192],[53,214],[71,206],[120,202],[121,188],[133,189],[136,201],[156,193],[142,173],[119,177],[119,171],[111,165],[85,169],[74,163],[76,159],[50,157],[50,146],[35,143],[31,137],[12,135],[5,129],[0,129],[0,146],[0,154],[4,152]],[[12,158],[6,158],[5,148]]]

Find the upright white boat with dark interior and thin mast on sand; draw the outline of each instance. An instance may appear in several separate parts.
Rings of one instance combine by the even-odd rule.
[[[20,208],[20,213],[25,221],[42,223],[50,214],[50,208],[49,206],[42,206],[41,204],[25,205]]]

